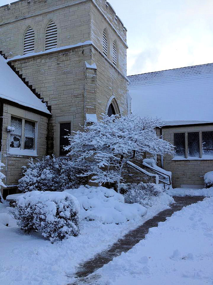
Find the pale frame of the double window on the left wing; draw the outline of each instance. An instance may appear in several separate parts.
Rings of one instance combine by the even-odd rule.
[[[22,118],[20,116],[11,114],[11,116],[10,116],[10,126],[11,126],[11,118],[12,117],[22,120],[21,146],[20,146],[20,148],[17,148],[17,153],[15,155],[19,155],[19,156],[26,155],[26,156],[29,156],[28,154],[23,154],[23,153],[20,154],[19,150],[22,150],[22,151],[35,151],[36,152],[36,156],[37,156],[38,122],[34,121],[34,120],[30,120],[28,118]],[[25,121],[32,122],[32,123],[35,124],[34,149],[27,149],[27,148],[25,148]],[[11,137],[12,134],[13,134],[13,132],[9,133],[7,153],[10,153],[10,149],[11,149],[11,147],[10,147],[10,137]],[[12,148],[12,149],[16,149],[16,148]]]

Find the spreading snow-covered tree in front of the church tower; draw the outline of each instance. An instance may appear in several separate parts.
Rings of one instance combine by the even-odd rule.
[[[72,156],[73,165],[83,169],[83,175],[90,175],[93,182],[99,185],[116,182],[119,186],[123,166],[134,152],[137,159],[145,152],[174,153],[173,145],[156,135],[155,128],[161,125],[158,119],[137,115],[103,115],[98,123],[84,126],[83,131],[68,136],[70,144],[65,149]]]

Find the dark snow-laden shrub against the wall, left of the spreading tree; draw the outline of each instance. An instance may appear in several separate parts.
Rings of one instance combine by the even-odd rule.
[[[69,159],[44,156],[41,160],[28,160],[28,168],[23,167],[19,190],[64,191],[86,184],[87,179],[80,177],[80,170],[70,164]]]

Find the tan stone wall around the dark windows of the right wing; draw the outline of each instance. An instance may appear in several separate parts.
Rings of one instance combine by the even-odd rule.
[[[185,126],[163,128],[163,139],[174,144],[174,133],[178,132],[205,132],[213,131],[211,126]],[[172,186],[180,187],[181,185],[201,185],[204,186],[204,174],[213,170],[213,160],[172,160],[170,156],[164,157],[164,169],[172,172]]]

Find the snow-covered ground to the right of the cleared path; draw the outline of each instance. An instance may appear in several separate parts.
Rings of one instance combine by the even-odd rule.
[[[184,207],[97,270],[92,284],[213,284],[212,217],[213,197]]]

